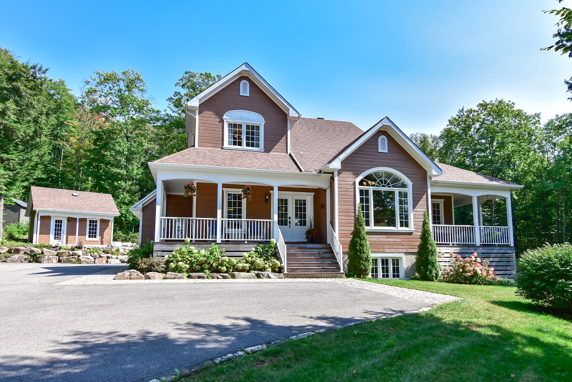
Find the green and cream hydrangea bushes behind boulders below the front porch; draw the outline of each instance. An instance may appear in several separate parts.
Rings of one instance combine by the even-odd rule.
[[[229,273],[229,272],[279,272],[284,265],[280,264],[275,255],[276,241],[269,244],[259,244],[250,252],[243,253],[243,258],[224,256],[225,249],[216,244],[209,249],[198,249],[185,240],[185,245],[175,249],[165,258],[165,265],[170,272],[177,273]]]

